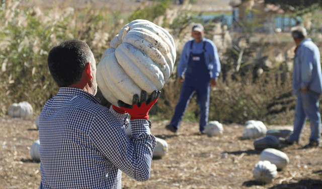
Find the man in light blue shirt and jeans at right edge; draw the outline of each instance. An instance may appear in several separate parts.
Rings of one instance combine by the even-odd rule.
[[[297,95],[294,131],[285,141],[291,145],[299,143],[306,118],[310,120],[311,135],[304,148],[318,147],[321,133],[319,98],[322,93],[322,74],[320,53],[310,38],[306,37],[304,27],[292,28],[292,36],[297,45],[293,66],[293,94]]]

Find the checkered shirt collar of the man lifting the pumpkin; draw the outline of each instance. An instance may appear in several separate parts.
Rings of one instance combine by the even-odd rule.
[[[78,88],[61,87],[61,88],[59,88],[57,95],[84,97],[84,98],[87,98],[87,99],[93,101],[96,104],[101,103],[101,100],[96,98],[94,95],[84,91],[83,89],[78,89]]]

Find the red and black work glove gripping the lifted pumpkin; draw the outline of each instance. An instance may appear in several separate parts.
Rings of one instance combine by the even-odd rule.
[[[153,104],[157,101],[160,96],[160,91],[153,91],[152,94],[146,100],[146,91],[141,91],[141,100],[138,101],[139,96],[135,94],[133,96],[133,105],[129,105],[119,100],[118,105],[126,112],[131,115],[130,120],[133,119],[148,119],[149,111]]]

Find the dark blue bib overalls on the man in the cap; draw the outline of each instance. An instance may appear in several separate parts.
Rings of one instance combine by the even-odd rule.
[[[185,72],[185,80],[182,84],[179,102],[175,108],[175,113],[172,117],[170,125],[176,127],[180,126],[182,117],[188,107],[189,101],[194,92],[197,92],[198,103],[200,107],[199,130],[203,132],[208,122],[209,112],[209,96],[210,96],[210,72],[205,62],[205,46],[206,41],[203,41],[203,51],[201,53],[193,53],[192,45],[190,44],[190,54]]]

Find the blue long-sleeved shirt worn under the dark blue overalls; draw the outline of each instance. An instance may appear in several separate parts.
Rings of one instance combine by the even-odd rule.
[[[180,60],[178,62],[178,75],[179,77],[183,77],[188,65],[189,54],[190,54],[190,43],[194,39],[189,40],[186,42],[182,54],[180,56]],[[216,45],[209,39],[203,38],[201,42],[196,43],[194,41],[192,45],[192,52],[193,53],[201,53],[202,52],[202,45],[203,41],[206,41],[206,52],[205,52],[205,60],[206,66],[210,72],[210,78],[217,78],[219,76],[221,66],[218,56],[218,51]]]

